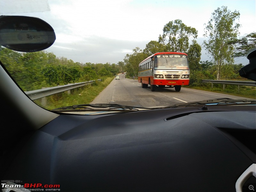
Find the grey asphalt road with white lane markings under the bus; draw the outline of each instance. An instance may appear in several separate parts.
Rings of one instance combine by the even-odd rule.
[[[174,88],[156,88],[155,92],[151,92],[149,85],[148,88],[141,88],[141,84],[138,83],[138,80],[125,78],[125,74],[119,75],[120,80],[114,78],[91,103],[117,103],[135,107],[157,107],[224,97],[231,99],[250,99],[188,89],[182,86],[180,92],[176,92]]]

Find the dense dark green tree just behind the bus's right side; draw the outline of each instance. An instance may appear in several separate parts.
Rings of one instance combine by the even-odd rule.
[[[202,70],[200,65],[201,50],[201,46],[195,39],[193,39],[192,44],[188,48],[188,63],[190,70]]]

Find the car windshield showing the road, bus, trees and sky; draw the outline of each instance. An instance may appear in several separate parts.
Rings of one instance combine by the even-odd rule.
[[[48,110],[256,99],[239,75],[256,47],[255,0],[2,0],[0,15],[2,65]]]

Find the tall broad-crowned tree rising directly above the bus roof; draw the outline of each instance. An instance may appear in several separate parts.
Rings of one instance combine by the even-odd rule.
[[[188,27],[181,20],[170,21],[164,26],[163,35],[159,35],[158,42],[166,45],[167,51],[187,52],[190,38],[197,38],[197,30]]]

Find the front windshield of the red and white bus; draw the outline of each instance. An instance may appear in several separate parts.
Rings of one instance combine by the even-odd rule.
[[[154,69],[189,69],[185,55],[156,55]]]

